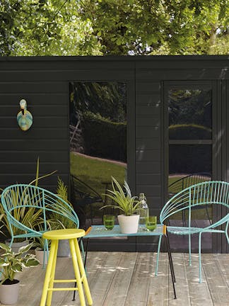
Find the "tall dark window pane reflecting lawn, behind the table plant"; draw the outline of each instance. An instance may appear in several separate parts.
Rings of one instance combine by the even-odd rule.
[[[88,186],[85,193],[92,188],[104,200],[111,176],[122,183],[127,175],[126,84],[71,82],[69,121],[71,174]],[[95,222],[101,206],[97,202],[82,209]]]

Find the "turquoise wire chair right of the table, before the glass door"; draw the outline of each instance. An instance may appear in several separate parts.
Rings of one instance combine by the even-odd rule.
[[[221,205],[226,208],[225,215],[221,218],[221,220],[217,220],[213,224],[201,228],[201,227],[193,227],[191,225],[192,220],[192,208],[195,209],[196,206],[203,205],[203,208],[206,205]],[[187,234],[189,236],[189,265],[192,265],[191,261],[191,235],[199,234],[199,283],[202,282],[201,277],[201,235],[206,232],[211,233],[224,233],[225,237],[229,244],[228,238],[228,223],[229,223],[229,183],[223,181],[206,181],[203,183],[197,183],[193,186],[189,186],[184,190],[177,193],[175,196],[170,198],[168,202],[165,204],[163,209],[160,212],[160,223],[164,224],[165,220],[170,219],[173,215],[177,214],[177,212],[187,212],[188,215],[188,225],[187,227],[172,227],[168,226],[167,230],[171,234],[184,235]],[[225,226],[221,227],[222,225]],[[218,228],[221,227],[221,228]],[[158,254],[160,252],[160,242],[161,237],[158,242]],[[158,259],[156,264],[155,274],[158,273]]]

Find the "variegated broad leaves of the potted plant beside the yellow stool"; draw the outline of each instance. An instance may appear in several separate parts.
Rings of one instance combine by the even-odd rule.
[[[4,243],[0,243],[0,248],[4,251],[0,257],[0,268],[2,270],[0,284],[8,285],[13,283],[17,272],[22,272],[23,268],[37,266],[39,264],[35,255],[27,253],[32,246],[33,243],[22,246],[18,253],[14,253],[11,247]]]

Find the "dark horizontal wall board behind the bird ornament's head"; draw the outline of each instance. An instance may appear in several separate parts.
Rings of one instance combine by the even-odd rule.
[[[25,99],[26,100],[26,99]],[[1,98],[0,98],[1,101]],[[68,117],[69,116],[69,108],[66,106],[64,99],[61,99],[62,106],[49,105],[49,100],[45,99],[47,105],[35,103],[35,101],[27,101],[27,108],[30,113],[32,113],[33,117],[41,116],[41,117],[49,117],[50,115],[53,117]],[[16,105],[16,101],[14,98],[11,98],[11,105],[0,105],[0,118],[4,117],[12,117],[14,118],[18,112],[20,111],[19,106],[20,100],[18,100],[18,105]],[[6,101],[4,101],[6,103]],[[44,101],[43,101],[44,103]]]

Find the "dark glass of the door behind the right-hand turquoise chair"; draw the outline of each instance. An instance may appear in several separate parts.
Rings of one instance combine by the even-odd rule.
[[[168,91],[169,196],[174,194],[175,186],[179,192],[211,179],[211,106],[209,90],[175,88]],[[205,210],[196,212],[195,218],[209,219]]]

